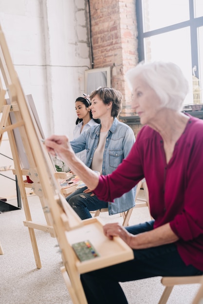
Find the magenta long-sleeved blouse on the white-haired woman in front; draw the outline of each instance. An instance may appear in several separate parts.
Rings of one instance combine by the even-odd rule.
[[[185,264],[203,270],[203,120],[189,117],[168,164],[162,137],[144,126],[128,157],[100,176],[94,193],[113,202],[145,177],[154,228],[169,222]]]

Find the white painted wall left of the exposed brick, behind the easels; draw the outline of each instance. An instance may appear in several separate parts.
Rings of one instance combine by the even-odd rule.
[[[45,136],[73,137],[74,101],[84,92],[84,71],[90,68],[87,22],[86,0],[0,0],[0,25]],[[0,152],[10,154],[6,147],[5,141]],[[0,167],[9,164],[0,157]],[[0,178],[0,188],[0,196],[13,196],[7,179]]]

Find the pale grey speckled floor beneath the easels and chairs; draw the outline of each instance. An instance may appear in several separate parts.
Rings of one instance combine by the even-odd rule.
[[[10,201],[16,205],[16,200]],[[29,197],[32,219],[45,223],[38,197]],[[105,222],[122,221],[118,215],[100,214]],[[134,209],[129,224],[149,220],[148,208]],[[72,304],[60,273],[57,241],[35,230],[42,268],[37,269],[23,209],[0,214],[0,304]],[[121,284],[129,304],[157,304],[164,290],[160,277]],[[168,304],[191,304],[199,285],[174,287]],[[115,303],[116,304],[116,303]]]

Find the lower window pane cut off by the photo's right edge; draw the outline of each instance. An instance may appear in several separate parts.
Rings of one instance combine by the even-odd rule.
[[[200,103],[203,103],[203,26],[198,28]]]

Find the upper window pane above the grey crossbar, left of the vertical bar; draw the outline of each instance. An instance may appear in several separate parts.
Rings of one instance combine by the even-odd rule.
[[[142,7],[144,32],[189,19],[189,0],[142,0]]]

